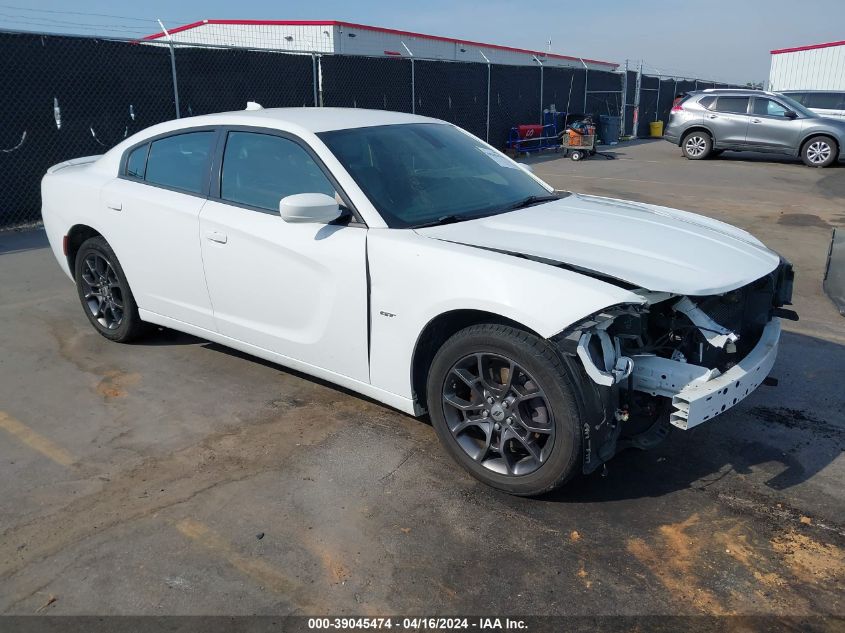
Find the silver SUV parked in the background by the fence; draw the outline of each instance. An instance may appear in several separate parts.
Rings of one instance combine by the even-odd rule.
[[[845,158],[845,120],[820,117],[776,92],[690,92],[672,107],[663,138],[690,160],[725,150],[798,157],[810,167]]]

